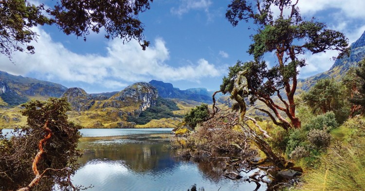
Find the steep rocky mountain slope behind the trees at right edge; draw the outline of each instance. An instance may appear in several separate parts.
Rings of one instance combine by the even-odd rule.
[[[310,76],[306,79],[298,80],[298,88],[305,91],[309,90],[319,79],[334,78],[341,80],[348,69],[356,66],[356,63],[362,60],[365,56],[365,32],[359,39],[350,45],[350,55],[337,59],[333,66],[322,73]]]

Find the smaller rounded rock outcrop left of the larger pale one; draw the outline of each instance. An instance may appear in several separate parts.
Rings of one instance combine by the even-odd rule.
[[[75,111],[86,111],[95,104],[91,94],[87,94],[80,87],[71,87],[62,94],[61,97],[67,97],[68,102]]]

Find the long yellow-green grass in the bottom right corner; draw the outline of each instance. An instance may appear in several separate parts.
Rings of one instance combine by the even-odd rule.
[[[328,155],[321,159],[322,165],[304,174],[304,182],[298,191],[363,191],[365,190],[365,122],[354,123],[350,141],[336,142]]]

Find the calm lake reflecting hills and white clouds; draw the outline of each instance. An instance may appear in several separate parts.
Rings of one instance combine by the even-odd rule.
[[[82,129],[84,156],[72,177],[88,191],[254,191],[256,184],[226,178],[219,164],[183,161],[169,149],[172,129]],[[4,130],[7,132],[9,130]],[[262,185],[259,191],[265,191]]]

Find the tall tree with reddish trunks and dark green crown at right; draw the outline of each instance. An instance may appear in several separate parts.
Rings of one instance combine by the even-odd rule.
[[[253,43],[248,52],[255,61],[241,63],[230,68],[229,77],[223,78],[220,88],[223,93],[230,93],[236,72],[247,69],[248,95],[253,104],[259,100],[270,110],[260,108],[268,114],[275,124],[284,129],[299,128],[300,120],[295,116],[294,94],[297,87],[297,68],[306,65],[299,55],[338,50],[340,56],[348,52],[347,38],[340,32],[327,29],[325,23],[314,19],[304,20],[297,7],[298,0],[232,0],[228,5],[226,18],[233,26],[244,20],[256,24],[257,34],[252,36]],[[278,12],[275,12],[275,8]],[[289,11],[289,15],[285,15]],[[265,53],[272,52],[277,64],[269,69],[262,61]],[[281,95],[281,91],[285,95]],[[271,96],[276,95],[279,102]],[[285,113],[286,117],[281,116]],[[276,120],[276,118],[277,120]]]

